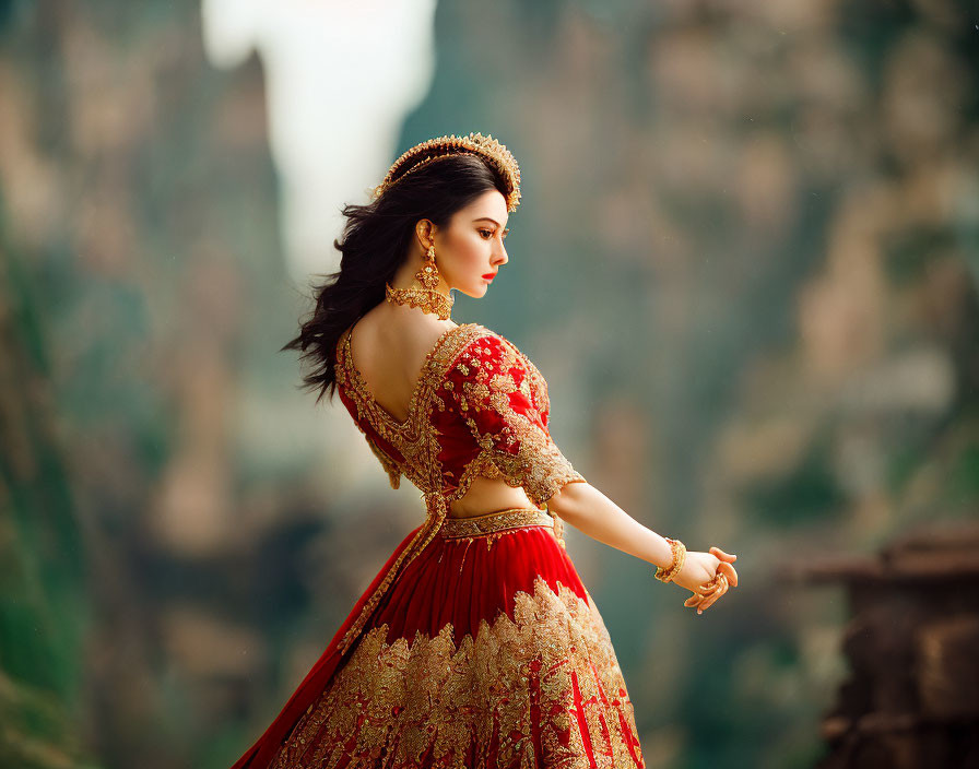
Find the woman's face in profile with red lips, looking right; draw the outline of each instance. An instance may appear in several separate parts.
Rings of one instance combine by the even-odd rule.
[[[507,218],[506,198],[490,190],[457,211],[446,227],[433,228],[435,263],[448,288],[475,298],[486,294],[507,263]]]

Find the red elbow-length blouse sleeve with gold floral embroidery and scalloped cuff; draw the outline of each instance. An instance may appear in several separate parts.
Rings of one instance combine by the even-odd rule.
[[[565,484],[585,481],[551,439],[544,378],[503,336],[491,333],[469,342],[439,394],[504,481],[522,486],[539,507]]]

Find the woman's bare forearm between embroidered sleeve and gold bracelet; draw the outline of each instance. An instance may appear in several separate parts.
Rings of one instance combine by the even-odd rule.
[[[565,484],[547,500],[547,509],[578,531],[624,553],[664,568],[673,563],[667,540],[589,483]]]

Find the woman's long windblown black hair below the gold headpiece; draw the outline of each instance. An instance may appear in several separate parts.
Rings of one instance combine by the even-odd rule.
[[[340,335],[385,300],[385,283],[408,258],[418,220],[447,226],[457,211],[494,189],[507,194],[505,180],[479,155],[447,155],[406,174],[370,203],[343,206],[347,221],[342,239],[333,241],[343,255],[340,270],[312,285],[315,308],[280,351],[303,351],[300,360],[310,363],[300,387],[318,389],[317,403],[337,389]]]

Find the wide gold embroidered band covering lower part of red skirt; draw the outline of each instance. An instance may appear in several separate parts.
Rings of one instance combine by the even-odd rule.
[[[387,643],[368,630],[298,720],[272,769],[645,767],[633,705],[602,617],[541,578],[514,618]]]

